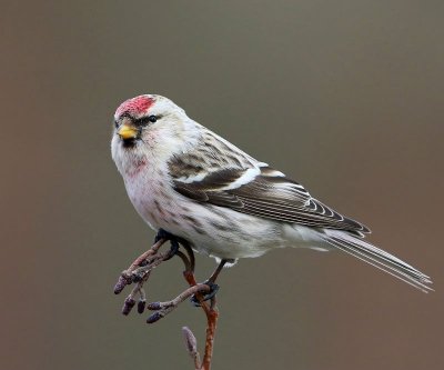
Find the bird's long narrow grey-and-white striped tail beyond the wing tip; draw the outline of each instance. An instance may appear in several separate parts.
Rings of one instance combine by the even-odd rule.
[[[349,254],[352,254],[360,260],[390,273],[391,276],[394,276],[395,278],[422,290],[423,292],[433,290],[427,286],[432,283],[430,277],[400,260],[398,258],[372,246],[363,239],[354,237],[347,232],[333,229],[324,229],[321,238],[329,244]]]

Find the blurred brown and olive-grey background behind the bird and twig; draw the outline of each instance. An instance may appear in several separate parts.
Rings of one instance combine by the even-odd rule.
[[[433,277],[341,252],[224,271],[214,369],[442,369],[443,1],[46,1],[1,10],[1,369],[191,369],[200,310],[120,314],[154,233],[110,158],[117,106],[164,94]],[[199,258],[199,278],[214,267]],[[184,287],[162,266],[150,300]]]

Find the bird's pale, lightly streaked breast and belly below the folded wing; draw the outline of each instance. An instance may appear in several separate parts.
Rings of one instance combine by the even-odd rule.
[[[198,252],[238,259],[259,257],[280,247],[309,247],[307,228],[198,203],[178,193],[159,173],[155,179],[127,178],[131,202],[152,229],[186,239]]]

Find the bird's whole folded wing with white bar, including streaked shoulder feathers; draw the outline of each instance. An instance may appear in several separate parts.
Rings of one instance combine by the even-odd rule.
[[[223,160],[214,158],[213,162],[208,154],[195,151],[174,157],[169,169],[175,191],[201,203],[276,221],[344,230],[360,237],[370,232],[362,223],[312,198],[282,172],[240,156],[240,150],[235,154]]]

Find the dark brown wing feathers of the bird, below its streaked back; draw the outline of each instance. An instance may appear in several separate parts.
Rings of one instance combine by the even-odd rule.
[[[269,167],[261,168],[261,174],[252,181],[226,189],[244,173],[245,169],[229,168],[211,172],[194,182],[183,182],[175,177],[173,186],[182,196],[195,201],[248,214],[314,228],[339,229],[357,236],[370,232],[360,222],[341,216],[312,198],[297,182],[275,176],[276,171]]]

